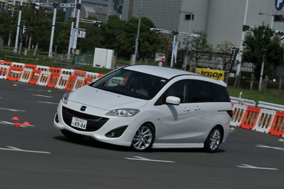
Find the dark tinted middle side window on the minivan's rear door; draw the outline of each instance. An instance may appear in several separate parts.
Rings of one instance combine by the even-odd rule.
[[[214,102],[213,84],[206,81],[190,80],[190,102]]]

